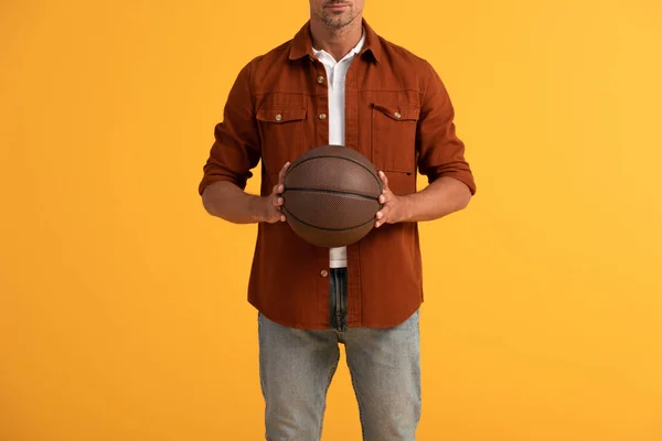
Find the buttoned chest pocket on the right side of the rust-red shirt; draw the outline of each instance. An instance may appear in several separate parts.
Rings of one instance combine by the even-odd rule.
[[[414,104],[373,103],[371,149],[377,169],[415,173],[419,114],[420,108]]]

